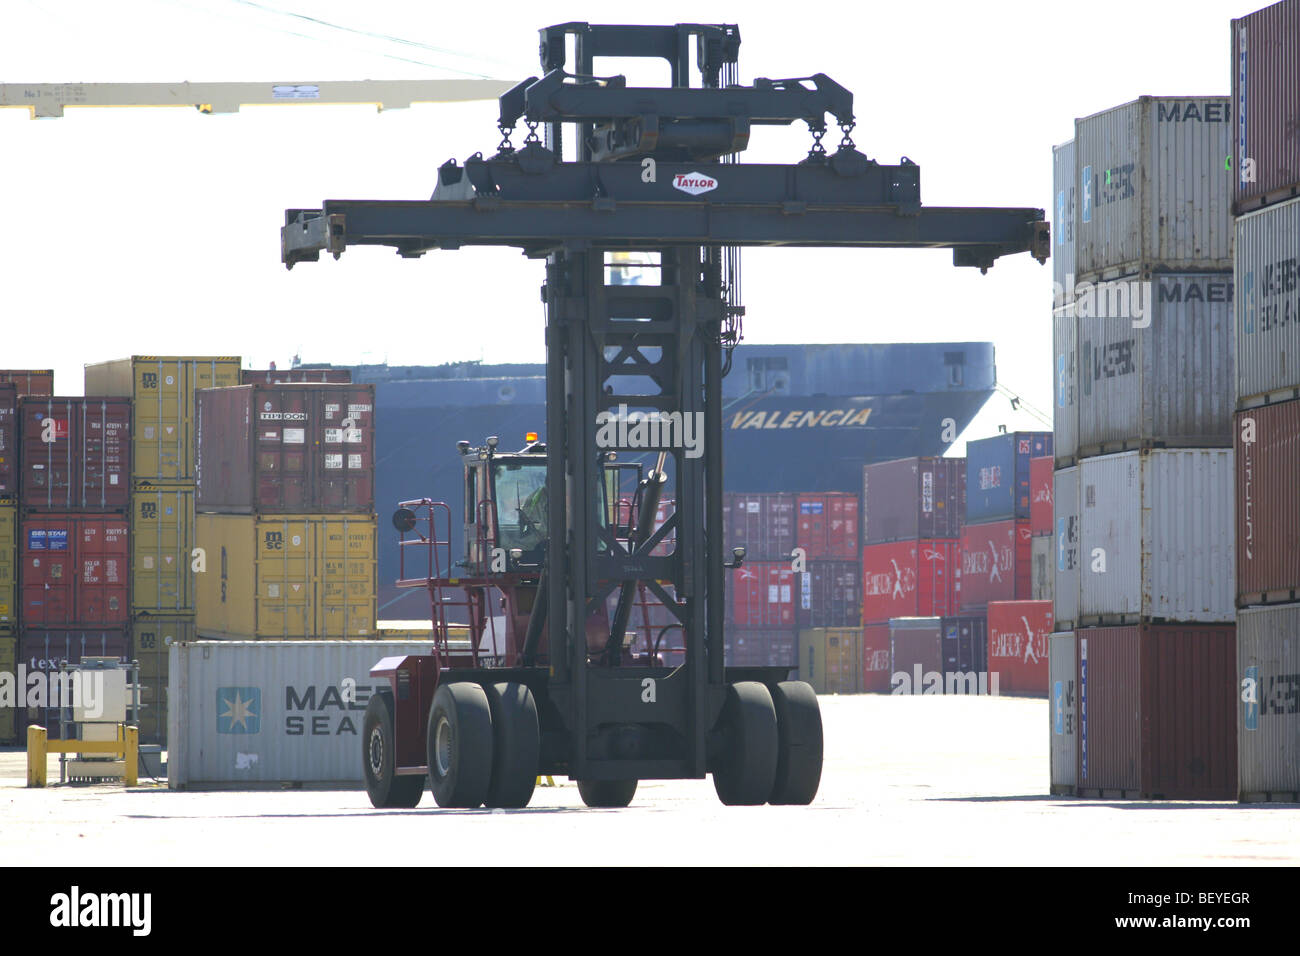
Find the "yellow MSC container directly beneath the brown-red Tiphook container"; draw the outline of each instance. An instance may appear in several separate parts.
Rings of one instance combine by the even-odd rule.
[[[200,637],[374,633],[373,515],[198,515]]]

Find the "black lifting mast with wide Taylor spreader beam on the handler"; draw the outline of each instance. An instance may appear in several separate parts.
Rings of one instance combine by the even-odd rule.
[[[536,671],[528,683],[542,714],[541,771],[608,782],[714,773],[724,801],[764,803],[772,778],[755,769],[763,758],[751,752],[763,745],[742,713],[753,709],[753,693],[737,688],[767,688],[776,698],[785,671],[723,662],[724,574],[744,559],[723,550],[722,376],[741,312],[728,247],[944,247],[956,265],[987,271],[1018,252],[1045,261],[1049,241],[1041,209],[922,206],[916,164],[884,165],[854,147],[848,90],[824,74],[736,85],[729,81],[738,48],[732,25],[546,27],[542,77],[500,98],[495,155],[446,163],[429,200],[289,209],[282,258],[291,268],[350,246],[419,256],[491,245],[546,259],[547,486],[564,494],[549,496],[552,531],[537,602],[549,662],[538,667],[541,627],[529,628],[514,662]],[[601,57],[664,59],[672,86],[637,88],[623,77],[599,77]],[[827,116],[842,131],[833,153],[820,142]],[[515,148],[510,137],[520,120],[528,134]],[[754,126],[796,121],[814,137],[802,161],[734,161]],[[545,142],[537,135],[542,125]],[[566,135],[575,137],[575,160],[563,159]],[[656,267],[658,285],[616,281],[611,254],[628,251],[650,254],[640,261]],[[601,423],[620,407],[702,423],[701,441],[682,447],[679,427],[660,428],[658,444],[611,442]],[[649,505],[654,512],[670,471],[676,511],[654,535],[624,546],[601,518],[602,476],[611,458],[646,451],[663,457],[642,483],[642,511]],[[653,554],[670,532],[676,550]],[[681,666],[642,666],[624,653],[625,607],[638,585],[681,622]],[[593,644],[589,618],[614,591],[619,613],[603,643]],[[780,700],[775,708],[780,718]],[[818,777],[819,727],[818,718]],[[788,790],[797,799],[772,801],[811,800],[816,780],[802,796],[800,786]]]

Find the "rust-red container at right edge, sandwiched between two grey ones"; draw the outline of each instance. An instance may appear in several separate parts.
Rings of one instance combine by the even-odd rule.
[[[1235,433],[1236,602],[1300,600],[1300,401],[1238,412]]]

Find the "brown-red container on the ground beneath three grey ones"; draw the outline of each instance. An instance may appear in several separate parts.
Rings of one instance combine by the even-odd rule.
[[[1236,628],[1075,632],[1079,796],[1236,796]]]

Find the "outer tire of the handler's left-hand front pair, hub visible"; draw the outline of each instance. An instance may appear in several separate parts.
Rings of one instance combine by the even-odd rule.
[[[429,786],[438,806],[474,808],[491,782],[491,708],[478,684],[442,684],[429,708]]]

